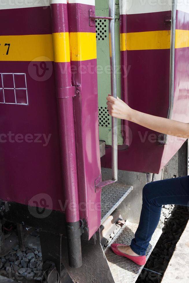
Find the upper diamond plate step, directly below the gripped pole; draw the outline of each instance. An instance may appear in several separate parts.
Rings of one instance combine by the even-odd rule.
[[[102,188],[101,192],[101,224],[118,207],[133,190],[132,186],[113,183]]]

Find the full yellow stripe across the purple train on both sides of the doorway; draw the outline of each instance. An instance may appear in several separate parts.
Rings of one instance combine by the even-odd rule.
[[[170,31],[121,33],[121,51],[170,49]],[[0,61],[69,62],[97,58],[96,34],[88,32],[0,36]],[[8,45],[10,44],[8,55]],[[54,46],[54,54],[53,54]],[[176,30],[175,48],[189,47],[189,31]]]

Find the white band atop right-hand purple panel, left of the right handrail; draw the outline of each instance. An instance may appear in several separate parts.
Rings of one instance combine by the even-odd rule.
[[[120,13],[124,15],[171,11],[171,8],[171,0],[120,0]]]

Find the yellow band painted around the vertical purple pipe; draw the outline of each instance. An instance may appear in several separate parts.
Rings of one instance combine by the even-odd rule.
[[[69,33],[53,33],[54,62],[70,61]]]

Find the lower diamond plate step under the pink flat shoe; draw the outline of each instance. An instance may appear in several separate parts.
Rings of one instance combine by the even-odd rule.
[[[113,238],[113,240],[110,242],[110,244],[106,247],[104,251],[115,283],[135,282],[140,272],[142,271],[142,268],[144,267],[135,264],[128,258],[114,254],[110,248],[110,245],[113,243],[130,245],[131,240],[134,238],[134,233],[136,232],[137,227],[138,224],[126,221],[123,227],[116,234],[116,236]],[[153,237],[147,250],[147,259],[153,251],[153,248],[155,247],[161,234],[162,230],[157,228],[155,230],[155,233],[153,234]]]

